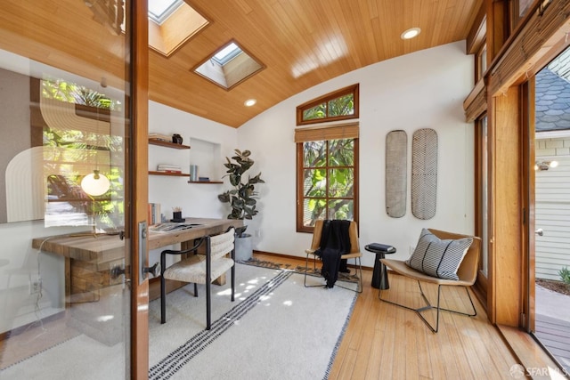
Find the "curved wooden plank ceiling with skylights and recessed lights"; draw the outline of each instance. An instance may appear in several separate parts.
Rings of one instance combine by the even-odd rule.
[[[232,127],[239,127],[265,109],[330,78],[406,53],[463,40],[483,2],[185,1],[211,23],[168,58],[150,49],[149,98]],[[41,10],[50,10],[53,18],[61,17],[61,24],[47,22],[33,0],[9,0],[3,5],[1,48],[63,69],[77,71],[64,61],[83,59],[94,66],[104,61],[105,69],[118,70],[120,60],[102,60],[99,51],[120,57],[121,52],[112,51],[109,44],[110,38],[118,37],[107,33],[103,44],[97,38],[102,34],[94,30],[87,30],[91,37],[80,36],[85,30],[85,18],[93,17],[83,1],[43,0],[41,5]],[[407,41],[401,39],[402,32],[412,27],[421,28],[420,35]],[[33,48],[31,52],[28,48],[20,52],[24,43],[29,46],[28,38],[40,43],[36,53]],[[66,41],[63,47],[61,38]],[[232,39],[261,61],[265,69],[226,91],[191,69]],[[88,52],[85,40],[93,42]],[[53,41],[58,41],[58,49],[65,51],[48,52],[45,46],[55,44]],[[89,66],[82,65],[77,73],[85,75]],[[249,98],[257,100],[250,108],[243,104]]]

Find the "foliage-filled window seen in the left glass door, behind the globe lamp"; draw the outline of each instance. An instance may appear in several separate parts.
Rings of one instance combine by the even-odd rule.
[[[113,111],[121,112],[122,102],[63,79],[33,79],[30,96],[35,104],[32,135],[42,133],[45,227],[124,225],[119,195],[124,173],[117,161],[124,141],[112,133],[111,117]],[[100,196],[88,195],[82,186],[95,170],[112,184]]]

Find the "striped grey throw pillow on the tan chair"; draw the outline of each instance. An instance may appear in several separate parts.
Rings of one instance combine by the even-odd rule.
[[[459,279],[457,270],[472,242],[472,238],[442,240],[428,229],[423,229],[418,245],[405,263],[428,276]]]

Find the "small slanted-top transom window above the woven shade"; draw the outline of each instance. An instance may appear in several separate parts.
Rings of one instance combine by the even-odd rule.
[[[297,125],[358,118],[358,85],[351,85],[297,107]]]

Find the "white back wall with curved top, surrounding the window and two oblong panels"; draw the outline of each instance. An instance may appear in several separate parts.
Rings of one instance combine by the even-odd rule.
[[[249,230],[259,230],[254,249],[304,256],[311,235],[296,232],[297,105],[338,88],[360,84],[360,243],[391,244],[406,258],[422,227],[473,233],[473,125],[465,123],[463,100],[473,88],[473,57],[465,42],[446,44],[383,61],[314,86],[266,110],[238,129],[238,145],[252,151],[253,172],[261,171],[260,214]],[[438,133],[436,216],[411,214],[411,135],[419,128]],[[408,201],[403,218],[385,211],[384,159],[389,131],[408,133]],[[372,266],[372,255],[363,264]]]

